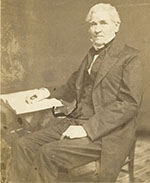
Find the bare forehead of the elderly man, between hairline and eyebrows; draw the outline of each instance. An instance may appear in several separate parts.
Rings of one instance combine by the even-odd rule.
[[[91,14],[91,21],[100,22],[112,22],[108,11],[93,12]]]

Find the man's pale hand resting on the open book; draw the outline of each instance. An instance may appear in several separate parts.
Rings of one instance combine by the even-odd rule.
[[[26,96],[25,100],[28,104],[36,103],[50,96],[50,92],[47,88],[40,88],[33,90],[33,93]]]

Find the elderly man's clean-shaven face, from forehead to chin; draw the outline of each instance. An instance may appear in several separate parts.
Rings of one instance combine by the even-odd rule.
[[[115,37],[117,26],[112,22],[108,12],[95,12],[91,15],[89,32],[94,45],[102,46]]]

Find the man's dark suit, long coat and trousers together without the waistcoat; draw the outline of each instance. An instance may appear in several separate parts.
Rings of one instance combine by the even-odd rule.
[[[79,102],[91,59],[89,51],[66,85],[50,89],[51,97]],[[18,162],[12,165],[18,168],[20,177],[26,177],[25,170],[29,170],[37,154],[35,166],[43,181],[54,181],[58,166],[73,168],[96,159],[100,159],[101,181],[115,181],[135,139],[136,115],[142,98],[141,68],[136,49],[113,41],[94,82],[94,115],[87,120],[77,119],[77,122],[65,119],[19,140],[13,158],[15,160],[16,156]],[[68,126],[77,123],[83,125],[88,137],[60,141]],[[19,175],[17,168],[13,175]]]

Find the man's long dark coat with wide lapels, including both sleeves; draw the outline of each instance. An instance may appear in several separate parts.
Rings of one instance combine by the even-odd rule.
[[[51,96],[80,100],[90,51],[66,85]],[[92,141],[102,140],[101,181],[115,181],[135,140],[136,116],[142,99],[139,52],[114,40],[95,80],[92,99],[95,115],[82,125]]]

